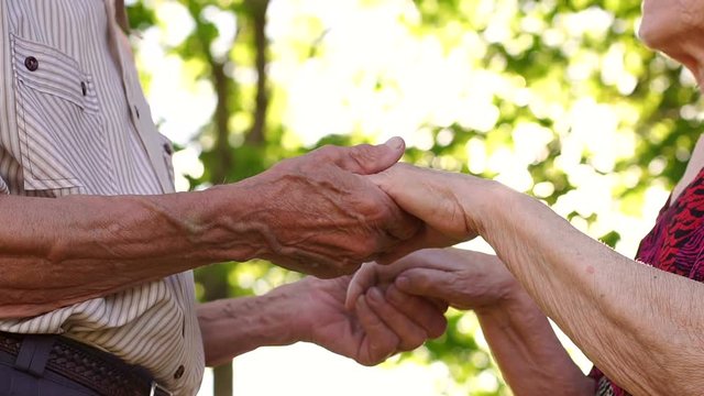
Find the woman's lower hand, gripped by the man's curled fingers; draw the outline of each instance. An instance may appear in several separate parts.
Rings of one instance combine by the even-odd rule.
[[[370,287],[385,284],[409,295],[477,311],[497,308],[520,290],[496,256],[458,249],[428,249],[391,265],[364,264],[350,283],[345,305],[354,305]]]

